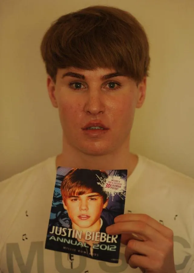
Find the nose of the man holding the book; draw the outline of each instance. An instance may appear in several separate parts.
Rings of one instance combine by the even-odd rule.
[[[87,93],[87,99],[84,106],[84,112],[87,114],[97,115],[104,113],[105,105],[103,94],[100,90],[90,89]]]

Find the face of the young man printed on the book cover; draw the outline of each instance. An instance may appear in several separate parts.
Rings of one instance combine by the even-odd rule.
[[[99,219],[102,209],[107,206],[103,203],[102,195],[89,193],[69,196],[64,201],[64,208],[67,210],[72,225],[87,228],[93,226]]]

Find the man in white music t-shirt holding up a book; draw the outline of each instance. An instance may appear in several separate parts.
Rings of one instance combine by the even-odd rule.
[[[2,272],[193,272],[193,180],[129,152],[150,63],[143,27],[120,9],[88,7],[60,17],[41,54],[63,148],[1,183]],[[125,214],[107,227],[125,245],[117,266],[44,250],[57,166],[128,170]]]

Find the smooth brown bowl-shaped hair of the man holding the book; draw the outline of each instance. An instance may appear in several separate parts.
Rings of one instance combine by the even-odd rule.
[[[41,55],[54,82],[58,68],[100,67],[116,69],[138,84],[150,64],[143,26],[129,12],[101,5],[56,20],[43,37]]]

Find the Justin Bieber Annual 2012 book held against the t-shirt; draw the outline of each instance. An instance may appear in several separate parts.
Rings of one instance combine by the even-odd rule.
[[[45,248],[119,262],[121,235],[106,233],[124,213],[127,170],[58,167]]]

